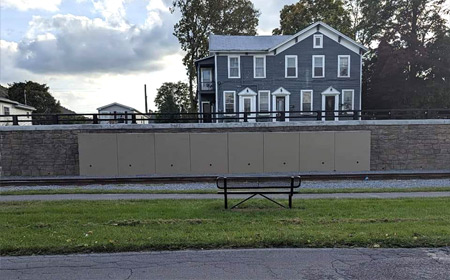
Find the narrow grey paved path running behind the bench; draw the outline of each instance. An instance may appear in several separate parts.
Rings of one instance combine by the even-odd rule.
[[[231,198],[245,198],[233,195]],[[275,198],[287,198],[286,195],[274,195]],[[415,197],[450,197],[450,192],[404,192],[404,193],[335,193],[335,194],[298,194],[294,199],[326,198],[415,198]],[[218,194],[49,194],[49,195],[3,195],[5,201],[56,201],[56,200],[153,200],[153,199],[222,199]]]

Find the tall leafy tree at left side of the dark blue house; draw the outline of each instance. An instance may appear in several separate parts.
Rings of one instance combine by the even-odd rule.
[[[183,64],[189,79],[189,110],[195,112],[195,60],[208,55],[209,35],[256,35],[260,13],[249,0],[175,0],[172,12],[176,10],[181,19],[174,26],[174,35],[186,52]]]

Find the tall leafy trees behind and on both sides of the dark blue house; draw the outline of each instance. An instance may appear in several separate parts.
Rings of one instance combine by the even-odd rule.
[[[300,0],[282,8],[280,26],[272,33],[292,35],[323,21],[369,47],[363,64],[363,109],[450,108],[450,28],[444,4]],[[155,102],[160,112],[169,107],[196,112],[195,60],[208,55],[209,35],[256,35],[260,12],[249,0],[175,0],[172,11],[181,13],[174,35],[186,52],[188,84],[163,84]],[[172,105],[161,103],[165,95]]]

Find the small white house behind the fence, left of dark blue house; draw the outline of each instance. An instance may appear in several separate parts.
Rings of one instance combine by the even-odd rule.
[[[117,102],[97,108],[99,113],[98,119],[101,124],[114,124],[114,123],[131,123],[132,114],[142,114],[133,107],[129,107]],[[105,115],[108,114],[108,115]],[[138,124],[148,123],[148,116],[138,115],[136,116],[136,122]]]

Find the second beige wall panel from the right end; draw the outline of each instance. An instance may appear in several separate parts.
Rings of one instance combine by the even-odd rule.
[[[334,132],[300,133],[300,171],[334,171]]]

